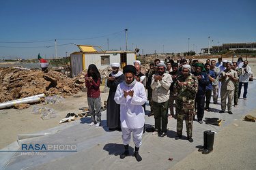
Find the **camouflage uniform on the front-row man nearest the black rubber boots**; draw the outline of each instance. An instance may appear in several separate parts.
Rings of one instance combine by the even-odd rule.
[[[188,86],[179,86],[177,80],[180,82],[188,82]],[[198,80],[194,75],[184,75],[177,77],[174,88],[177,91],[177,136],[182,136],[183,118],[186,121],[186,133],[188,138],[192,137],[193,116],[195,115],[195,96],[198,90]]]

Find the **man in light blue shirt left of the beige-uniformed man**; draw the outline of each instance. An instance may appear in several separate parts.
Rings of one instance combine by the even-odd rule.
[[[215,81],[216,77],[215,77],[214,71],[210,70],[210,63],[205,63],[204,68],[210,80],[210,83],[208,84],[208,86],[206,86],[206,93],[205,93],[205,96],[206,96],[205,110],[209,112],[210,111],[209,105],[210,105],[211,96],[212,96],[212,82]]]

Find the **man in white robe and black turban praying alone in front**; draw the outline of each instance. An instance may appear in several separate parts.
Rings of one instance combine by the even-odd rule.
[[[147,95],[143,84],[134,79],[136,69],[132,65],[126,65],[123,69],[126,80],[117,86],[114,100],[120,105],[120,120],[122,129],[122,139],[125,152],[120,158],[129,155],[130,135],[132,132],[135,145],[134,157],[137,161],[142,158],[139,155],[141,137],[145,123],[145,112],[142,105],[147,101]]]

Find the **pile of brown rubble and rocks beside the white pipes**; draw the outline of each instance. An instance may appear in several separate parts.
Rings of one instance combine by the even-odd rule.
[[[57,71],[48,73],[31,69],[0,67],[0,103],[44,93],[46,96],[72,95],[83,88],[83,84]]]

